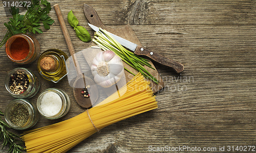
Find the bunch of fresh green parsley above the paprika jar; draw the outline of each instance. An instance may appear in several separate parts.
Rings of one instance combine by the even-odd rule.
[[[4,25],[8,29],[0,48],[12,36],[18,33],[42,33],[41,23],[45,29],[50,29],[50,25],[54,20],[48,15],[51,11],[51,4],[47,0],[31,0],[31,6],[26,7],[25,15],[19,14],[19,9],[11,7],[10,12],[12,17],[8,23]]]

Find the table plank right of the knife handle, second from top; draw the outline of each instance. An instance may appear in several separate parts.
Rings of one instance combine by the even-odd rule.
[[[142,45],[185,68],[255,68],[253,25],[133,26]],[[141,31],[143,29],[143,31]]]

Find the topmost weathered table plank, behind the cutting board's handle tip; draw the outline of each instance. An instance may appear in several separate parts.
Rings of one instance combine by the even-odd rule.
[[[73,9],[80,21],[84,17],[83,3],[91,5],[105,25],[155,24],[255,24],[255,1],[53,1],[59,3],[63,14]],[[4,11],[4,8],[0,10]],[[54,16],[54,11],[51,16]]]

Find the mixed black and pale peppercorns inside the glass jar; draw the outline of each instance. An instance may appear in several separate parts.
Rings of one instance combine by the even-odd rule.
[[[24,72],[16,72],[10,76],[10,90],[14,94],[23,94],[29,86],[28,76]]]

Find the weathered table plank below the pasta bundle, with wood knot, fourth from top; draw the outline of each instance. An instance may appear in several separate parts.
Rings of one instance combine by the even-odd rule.
[[[69,152],[148,152],[148,146],[227,149],[228,145],[254,145],[255,115],[254,111],[150,111],[103,128],[100,134],[94,134]]]

